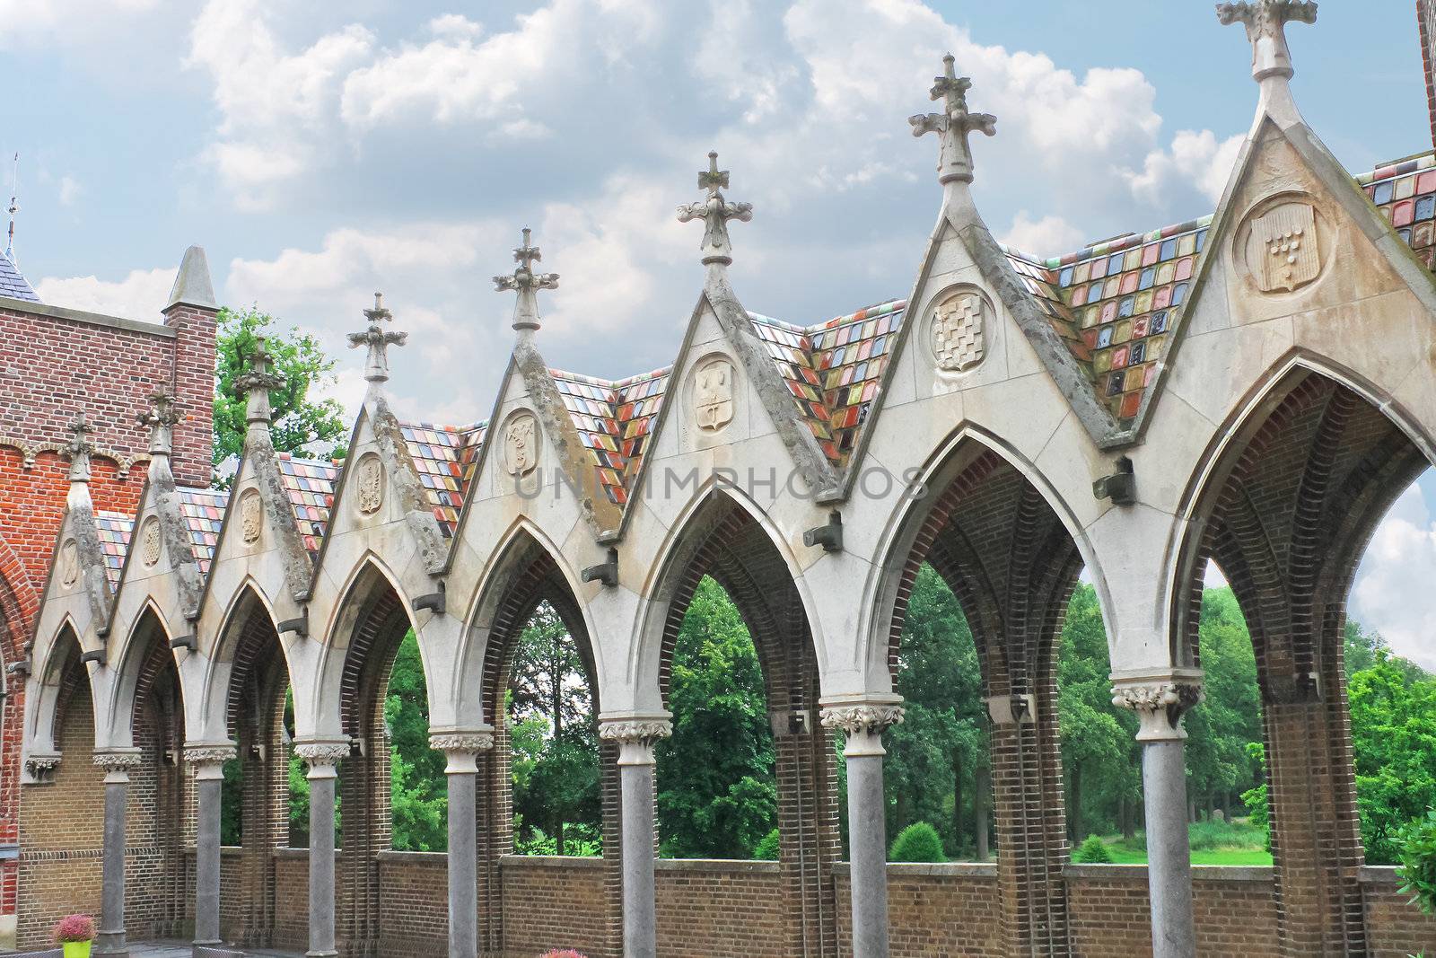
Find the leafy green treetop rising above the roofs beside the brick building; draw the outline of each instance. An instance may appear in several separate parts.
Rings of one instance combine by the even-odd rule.
[[[270,435],[279,452],[330,457],[340,454],[348,427],[337,399],[317,399],[313,392],[333,385],[335,361],[319,340],[297,326],[287,329],[257,306],[220,310],[215,330],[214,464],[233,462],[244,450],[244,405],[234,381],[248,369],[256,338],[264,336],[283,386],[270,392],[274,411]]]

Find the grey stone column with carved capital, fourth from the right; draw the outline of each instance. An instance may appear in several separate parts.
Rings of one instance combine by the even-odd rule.
[[[448,757],[449,958],[478,955],[478,836],[475,786],[478,753],[494,747],[494,730],[429,735],[429,747]]]

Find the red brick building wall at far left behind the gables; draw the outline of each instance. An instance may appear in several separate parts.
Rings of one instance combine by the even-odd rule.
[[[45,445],[63,444],[65,427],[85,409],[102,452],[144,455],[135,424],[148,396],[175,394],[185,421],[175,428],[175,477],[208,485],[214,394],[214,313],[181,306],[165,325],[108,320],[72,310],[0,309],[0,668],[24,656],[22,643],[45,587],[65,511],[66,464]],[[123,475],[99,455],[90,497],[96,508],[134,513],[145,464]],[[0,845],[19,840],[23,688],[0,701]],[[79,745],[89,760],[93,740]],[[73,763],[70,763],[73,768]],[[0,915],[17,908],[17,868],[0,860]]]

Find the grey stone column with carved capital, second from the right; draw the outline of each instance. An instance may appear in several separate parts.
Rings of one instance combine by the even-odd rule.
[[[823,727],[847,737],[847,843],[852,857],[853,955],[887,958],[887,801],[882,735],[902,721],[892,702],[823,710]]]

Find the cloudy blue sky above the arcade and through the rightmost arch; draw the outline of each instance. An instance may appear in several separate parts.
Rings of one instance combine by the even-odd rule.
[[[1294,92],[1353,171],[1430,147],[1409,0],[1290,29]],[[1256,88],[1208,0],[0,0],[0,157],[16,257],[50,303],[158,319],[187,246],[223,303],[316,333],[353,408],[345,333],[383,290],[409,345],[399,412],[488,414],[530,225],[560,287],[550,365],[672,362],[702,284],[679,224],[719,151],[732,282],[816,323],[905,296],[938,214],[908,116],[951,50],[992,233],[1040,256],[1211,213]],[[9,169],[4,169],[9,180]],[[7,184],[6,184],[7,185]],[[1351,612],[1436,668],[1436,480],[1393,507]]]

